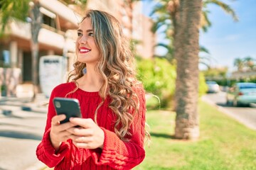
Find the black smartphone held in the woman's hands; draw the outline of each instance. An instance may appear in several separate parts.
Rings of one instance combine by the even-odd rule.
[[[53,98],[53,105],[58,115],[66,115],[60,123],[67,123],[70,118],[81,118],[80,104],[76,98]]]

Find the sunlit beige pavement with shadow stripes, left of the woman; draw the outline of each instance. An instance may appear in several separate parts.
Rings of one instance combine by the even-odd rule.
[[[36,157],[36,147],[43,135],[46,112],[6,105],[1,105],[0,111],[0,170],[40,169],[36,166],[43,163]],[[4,115],[4,111],[12,113]]]

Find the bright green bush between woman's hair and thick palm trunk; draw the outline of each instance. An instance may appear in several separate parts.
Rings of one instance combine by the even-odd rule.
[[[164,58],[139,59],[137,73],[146,91],[159,97],[161,108],[171,106],[176,79],[176,67],[173,64]]]

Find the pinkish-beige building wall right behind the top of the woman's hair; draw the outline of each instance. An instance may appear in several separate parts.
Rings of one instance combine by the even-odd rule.
[[[123,27],[124,35],[140,42],[137,45],[137,55],[151,58],[154,55],[156,36],[151,33],[152,21],[142,14],[142,2],[133,4],[133,12],[123,0],[88,0],[87,8],[99,9],[112,13]],[[132,25],[130,21],[132,15]],[[133,33],[130,32],[132,27]]]

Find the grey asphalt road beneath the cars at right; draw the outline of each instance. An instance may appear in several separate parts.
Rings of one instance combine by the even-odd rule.
[[[248,128],[256,130],[256,108],[227,106],[225,95],[223,91],[218,94],[206,94],[206,96],[203,96],[203,100],[218,106],[220,111],[235,118],[235,120],[238,120]]]

